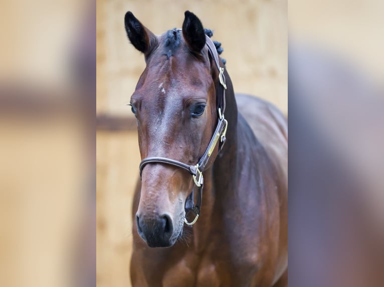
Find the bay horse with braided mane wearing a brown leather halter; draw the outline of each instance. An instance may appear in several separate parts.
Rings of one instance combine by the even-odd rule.
[[[146,62],[130,100],[143,159],[132,285],[287,286],[287,120],[235,96],[220,43],[184,16],[161,35],[124,19]]]

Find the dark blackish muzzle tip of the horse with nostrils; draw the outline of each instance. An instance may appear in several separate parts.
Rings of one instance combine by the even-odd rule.
[[[149,247],[172,246],[173,220],[168,214],[146,217],[136,213],[137,232]]]

